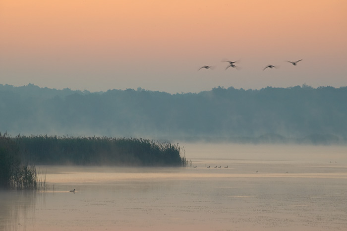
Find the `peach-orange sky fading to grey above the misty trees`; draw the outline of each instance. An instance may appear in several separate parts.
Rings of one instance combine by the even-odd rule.
[[[0,0],[0,84],[342,87],[346,41],[346,0]]]

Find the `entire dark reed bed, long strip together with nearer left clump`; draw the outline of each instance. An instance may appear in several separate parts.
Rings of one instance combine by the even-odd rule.
[[[22,164],[22,163],[31,163]],[[0,133],[0,187],[47,190],[35,165],[186,167],[184,149],[142,138],[16,136]]]

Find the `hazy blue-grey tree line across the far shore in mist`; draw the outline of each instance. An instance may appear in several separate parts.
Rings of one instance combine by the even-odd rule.
[[[0,85],[0,129],[11,134],[237,142],[346,142],[347,87],[199,93],[72,91]]]

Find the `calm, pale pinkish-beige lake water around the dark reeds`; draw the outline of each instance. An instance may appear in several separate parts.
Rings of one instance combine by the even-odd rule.
[[[49,190],[0,191],[0,229],[347,230],[346,146],[183,146],[196,168],[39,166]]]

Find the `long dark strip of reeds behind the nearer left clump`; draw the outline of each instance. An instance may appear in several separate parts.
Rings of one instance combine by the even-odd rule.
[[[21,158],[38,165],[185,167],[184,149],[142,138],[32,135],[14,138]]]

